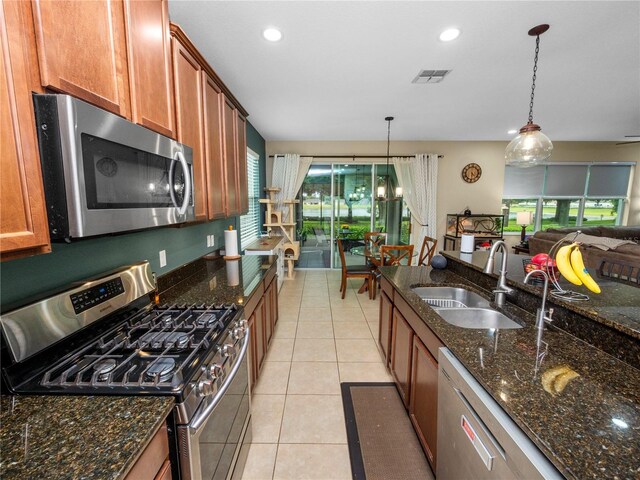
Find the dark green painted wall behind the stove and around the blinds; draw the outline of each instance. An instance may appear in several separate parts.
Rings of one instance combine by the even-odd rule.
[[[260,155],[264,183],[265,143],[247,124],[247,146]],[[238,217],[185,227],[164,227],[136,233],[54,243],[52,252],[0,264],[0,306],[82,280],[122,265],[148,260],[157,275],[191,262],[224,245],[223,231],[238,228]],[[207,235],[215,235],[215,247],[207,248]],[[160,268],[158,252],[166,250],[167,265]]]

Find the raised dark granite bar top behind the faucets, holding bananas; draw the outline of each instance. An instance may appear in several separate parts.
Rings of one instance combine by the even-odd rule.
[[[477,251],[473,254],[463,254],[461,252],[442,252],[447,258],[464,263],[469,268],[482,272],[488,252]],[[537,293],[538,289],[524,283],[523,259],[529,256],[509,255],[507,284],[516,286],[531,293]],[[500,267],[500,255],[495,262],[494,271]],[[602,293],[596,294],[587,290],[582,285],[573,285],[564,279],[560,280],[562,288],[573,290],[578,293],[589,295],[586,302],[568,302],[553,296],[549,296],[551,304],[561,305],[591,320],[607,325],[621,333],[640,340],[640,288],[615,282],[607,278],[598,278],[595,272],[590,272],[598,282]]]

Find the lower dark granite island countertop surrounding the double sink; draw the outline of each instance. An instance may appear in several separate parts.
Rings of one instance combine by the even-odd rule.
[[[457,284],[485,297],[488,292],[449,269],[382,267],[380,271],[564,476],[640,476],[639,370],[556,328],[545,329],[546,346],[538,349],[533,315],[509,303],[503,312],[524,328],[450,325],[411,288]],[[544,390],[541,377],[560,365],[580,376],[562,393],[552,395]]]

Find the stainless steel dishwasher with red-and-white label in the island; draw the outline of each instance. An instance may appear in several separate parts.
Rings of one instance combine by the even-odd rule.
[[[563,478],[448,348],[438,362],[438,480]]]

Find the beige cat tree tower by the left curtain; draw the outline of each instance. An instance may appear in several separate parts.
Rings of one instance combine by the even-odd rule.
[[[271,232],[274,229],[276,234],[282,234],[284,236],[284,260],[287,262],[287,277],[293,276],[293,264],[300,256],[300,242],[296,240],[296,203],[300,203],[300,200],[284,200],[282,204],[288,208],[288,211],[284,213],[279,210],[275,210],[276,207],[276,194],[280,192],[278,187],[267,187],[264,189],[269,194],[269,198],[261,198],[260,203],[264,203],[267,206],[267,212],[265,214],[265,224],[267,232]]]

